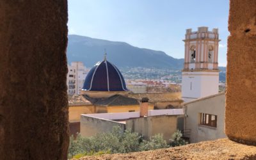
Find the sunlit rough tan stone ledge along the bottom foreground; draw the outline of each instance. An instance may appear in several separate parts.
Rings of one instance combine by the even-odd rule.
[[[86,156],[79,160],[85,159],[256,159],[256,146],[243,145],[225,138],[130,154]]]

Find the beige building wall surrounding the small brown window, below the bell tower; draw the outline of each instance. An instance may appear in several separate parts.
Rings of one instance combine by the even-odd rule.
[[[185,129],[191,129],[191,143],[226,137],[224,133],[225,93],[218,93],[210,97],[185,103],[184,110]],[[200,125],[200,113],[216,115],[217,127]]]

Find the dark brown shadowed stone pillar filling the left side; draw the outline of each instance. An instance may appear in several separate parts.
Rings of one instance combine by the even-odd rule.
[[[67,159],[67,0],[0,1],[0,159]]]

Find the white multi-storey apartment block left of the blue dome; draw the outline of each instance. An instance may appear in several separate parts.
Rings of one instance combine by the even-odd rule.
[[[81,61],[73,61],[71,62],[71,65],[68,65],[68,95],[80,94],[88,70],[89,69],[84,67],[83,62]]]

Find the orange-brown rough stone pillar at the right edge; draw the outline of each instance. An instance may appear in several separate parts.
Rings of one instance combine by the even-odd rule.
[[[256,144],[256,1],[232,0],[228,19],[225,133]]]

